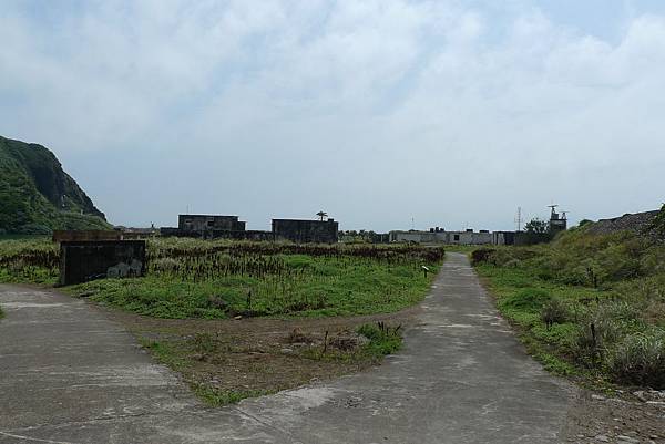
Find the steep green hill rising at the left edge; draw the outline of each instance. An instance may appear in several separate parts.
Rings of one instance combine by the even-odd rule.
[[[0,234],[110,228],[53,153],[0,136]]]

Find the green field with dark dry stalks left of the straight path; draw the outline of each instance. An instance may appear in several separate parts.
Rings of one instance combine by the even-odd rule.
[[[64,291],[156,318],[370,314],[420,301],[442,259],[442,249],[416,246],[155,239],[149,241],[145,277]],[[431,270],[427,276],[423,265]],[[0,281],[57,278],[52,244],[0,241]]]

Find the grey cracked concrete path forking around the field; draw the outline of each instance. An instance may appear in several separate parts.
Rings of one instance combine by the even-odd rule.
[[[459,254],[383,365],[217,410],[85,301],[0,286],[0,443],[556,443],[575,394]]]

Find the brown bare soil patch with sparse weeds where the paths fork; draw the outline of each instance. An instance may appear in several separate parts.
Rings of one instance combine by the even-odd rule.
[[[161,362],[181,373],[213,405],[326,381],[368,369],[380,359],[362,352],[360,326],[408,328],[420,310],[320,319],[154,319],[111,308]]]

